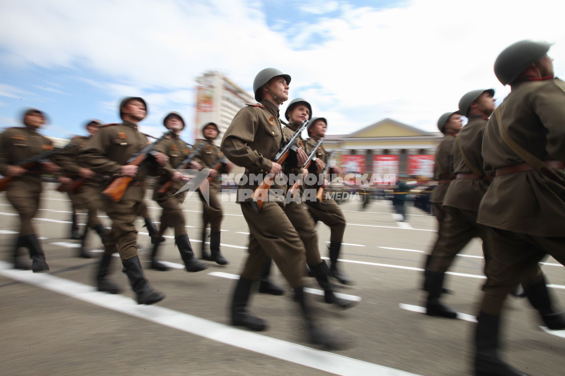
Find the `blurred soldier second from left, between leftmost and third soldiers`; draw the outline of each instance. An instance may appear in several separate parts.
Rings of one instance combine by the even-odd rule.
[[[86,223],[84,235],[80,237],[82,244],[77,253],[79,257],[87,259],[90,258],[90,254],[86,251],[88,230],[93,229],[96,231],[103,243],[107,240],[109,232],[98,219],[98,206],[101,202],[100,193],[102,192],[100,189],[102,184],[101,178],[97,177],[94,171],[79,165],[77,155],[80,149],[86,144],[86,141],[98,131],[100,126],[101,123],[98,120],[91,119],[87,121],[85,127],[90,136],[75,136],[71,139],[71,144],[74,146],[58,153],[58,164],[66,174],[71,175],[75,179],[73,186],[77,185],[77,180],[81,182],[75,192],[73,192],[72,187],[70,187],[71,189],[68,190],[68,194],[73,197],[73,200],[80,202],[80,205],[88,210],[88,222]],[[74,206],[75,205],[73,205],[73,207]]]

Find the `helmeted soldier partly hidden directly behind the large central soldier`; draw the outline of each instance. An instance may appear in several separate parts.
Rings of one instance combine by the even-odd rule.
[[[303,121],[306,119],[310,120],[312,118],[312,107],[310,103],[302,98],[293,99],[286,108],[285,117],[289,123],[288,126],[282,129],[282,134],[285,139],[290,139]],[[302,140],[301,137],[297,138],[296,144],[299,148],[305,149],[304,140]],[[302,171],[301,169],[289,169],[289,172],[297,174]],[[306,174],[306,171],[304,173]],[[289,184],[292,185],[290,182],[293,182],[293,180],[289,179]],[[305,209],[305,206],[299,198],[292,201],[287,200],[286,205],[284,206],[284,213],[298,232],[298,236],[301,238],[305,246],[306,264],[316,278],[316,281],[318,281],[320,287],[324,290],[324,301],[326,303],[334,304],[340,308],[351,308],[355,305],[354,302],[338,298],[333,293],[332,286],[328,279],[328,277],[331,276],[331,272],[325,261],[321,259],[320,250],[318,249],[316,224],[314,223],[312,216],[306,213]],[[270,263],[268,263],[268,266],[270,266]],[[270,281],[268,279],[266,280],[265,273],[263,273],[261,284],[259,284],[259,292],[267,292],[277,295],[274,291],[276,291],[278,286],[272,286],[272,284],[269,284]],[[268,289],[274,289],[274,291],[268,291]]]

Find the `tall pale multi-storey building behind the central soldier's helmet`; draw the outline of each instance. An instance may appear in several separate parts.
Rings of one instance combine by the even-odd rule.
[[[246,103],[255,103],[255,99],[223,73],[215,70],[202,74],[196,82],[194,138],[202,138],[201,128],[204,123],[214,122],[220,129],[218,140],[221,140],[236,113]]]

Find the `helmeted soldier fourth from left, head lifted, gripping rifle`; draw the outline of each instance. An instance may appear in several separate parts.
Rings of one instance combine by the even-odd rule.
[[[169,113],[163,120],[163,125],[175,133],[174,136],[169,136],[166,140],[162,141],[155,147],[155,151],[161,152],[169,157],[169,164],[167,167],[176,169],[176,167],[184,161],[186,156],[190,153],[188,145],[180,139],[180,132],[184,129],[184,119],[177,112]],[[171,167],[172,166],[172,167]],[[201,169],[198,162],[193,162],[190,166],[193,169]],[[179,174],[179,172],[175,172]],[[178,176],[178,175],[175,175]],[[175,229],[175,242],[179,248],[179,253],[184,261],[186,271],[199,272],[208,268],[206,264],[199,262],[194,257],[194,252],[190,246],[190,240],[186,233],[184,214],[182,214],[181,205],[184,202],[186,192],[175,194],[179,189],[184,186],[184,180],[176,179],[172,187],[165,193],[160,193],[159,189],[168,179],[157,179],[153,187],[153,200],[163,208],[161,213],[161,224],[159,233],[156,237],[151,238],[153,243],[153,251],[151,252],[151,268],[159,271],[166,271],[168,269],[163,263],[157,261],[157,252],[159,244],[165,240],[163,233],[167,228],[172,227]]]

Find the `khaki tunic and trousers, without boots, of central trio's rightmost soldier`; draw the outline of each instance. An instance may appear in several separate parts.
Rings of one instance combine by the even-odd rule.
[[[317,139],[314,138],[307,139],[306,153],[310,154],[312,152],[312,149],[316,147],[317,143],[318,143]],[[318,154],[318,158],[324,161],[324,163],[326,164],[329,163],[328,161],[329,154],[325,151],[323,146],[321,146],[318,149],[317,154]],[[315,188],[306,187],[306,191],[308,189],[315,189]],[[314,197],[316,197],[315,194]],[[330,228],[329,240],[332,242],[342,242],[345,233],[345,215],[342,213],[336,201],[334,201],[333,198],[323,197],[320,205],[318,205],[316,201],[306,201],[306,204],[308,205],[308,213],[310,213],[312,219],[314,219],[314,223],[320,220],[325,225],[329,226]]]

